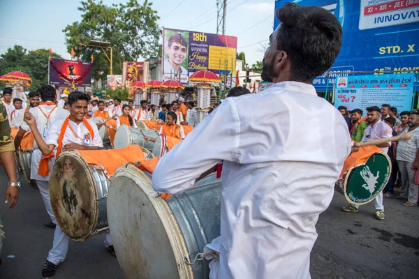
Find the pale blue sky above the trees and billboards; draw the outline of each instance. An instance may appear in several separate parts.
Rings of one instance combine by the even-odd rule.
[[[103,0],[106,5],[125,2]],[[70,59],[62,30],[81,20],[78,6],[75,0],[2,0],[0,54],[22,45],[27,50],[51,48]],[[160,27],[216,33],[216,0],[154,0],[153,8]],[[249,66],[263,59],[273,22],[274,0],[227,1],[226,35],[237,36],[237,52],[246,54]]]

